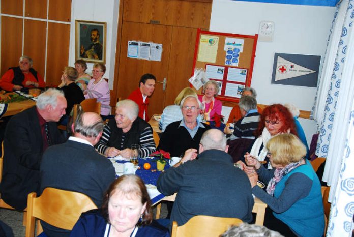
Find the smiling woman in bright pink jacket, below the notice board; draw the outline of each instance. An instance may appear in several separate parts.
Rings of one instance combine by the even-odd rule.
[[[215,99],[219,93],[219,85],[216,81],[209,80],[203,86],[204,95],[199,95],[198,99],[204,107],[204,121],[214,121],[215,113],[221,114],[221,101]]]

